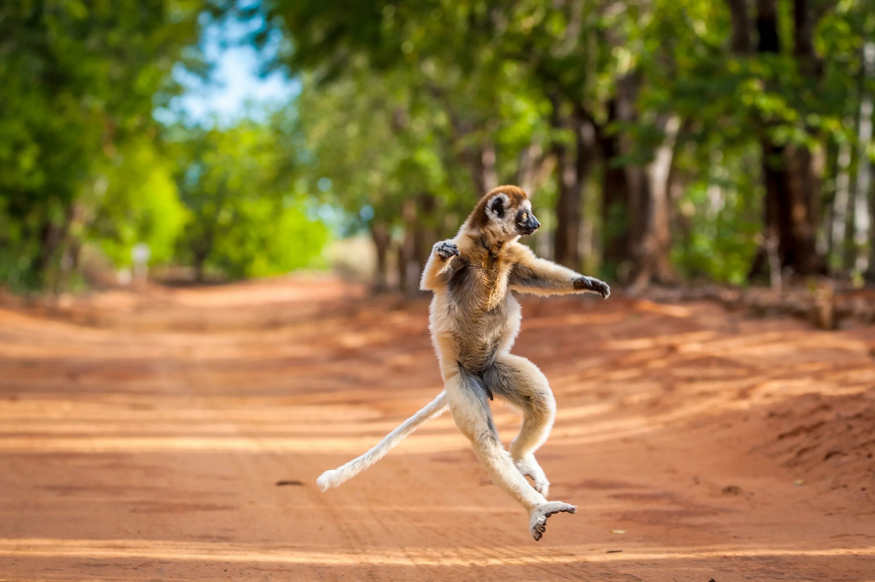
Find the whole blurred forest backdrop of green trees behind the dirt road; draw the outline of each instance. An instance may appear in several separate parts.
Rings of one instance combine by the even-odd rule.
[[[875,280],[873,8],[7,1],[0,286],[125,281],[134,258],[200,281],[344,256],[377,290],[416,292],[431,244],[508,183],[533,199],[539,254],[612,284],[859,286]],[[290,90],[193,115],[217,42]]]

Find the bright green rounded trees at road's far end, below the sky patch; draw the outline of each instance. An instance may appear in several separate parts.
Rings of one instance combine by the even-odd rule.
[[[327,228],[295,193],[291,151],[271,125],[242,122],[226,130],[172,128],[175,182],[188,220],[179,258],[197,278],[276,275],[310,264]]]

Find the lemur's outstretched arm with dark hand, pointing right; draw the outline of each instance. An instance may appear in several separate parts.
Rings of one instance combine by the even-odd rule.
[[[513,291],[536,295],[590,292],[605,299],[611,294],[611,288],[605,282],[539,258],[524,245],[517,247],[514,249],[514,266],[507,280]]]

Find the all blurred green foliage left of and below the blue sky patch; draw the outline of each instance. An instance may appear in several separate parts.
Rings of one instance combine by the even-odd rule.
[[[165,130],[152,116],[179,94],[174,67],[207,74],[204,26],[253,14],[222,0],[0,4],[0,284],[59,289],[88,243],[117,266],[144,242],[152,263],[226,277],[318,255],[326,229],[269,123]]]

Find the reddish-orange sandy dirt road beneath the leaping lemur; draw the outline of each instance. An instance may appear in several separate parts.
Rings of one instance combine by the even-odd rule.
[[[331,281],[0,309],[0,579],[875,580],[875,330],[527,300],[575,503],[535,543],[450,417],[427,303]],[[519,423],[497,405],[502,437]],[[622,532],[622,533],[612,533]]]

